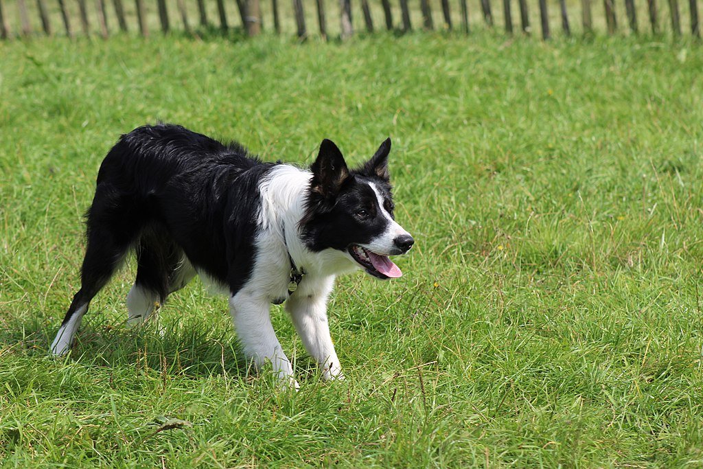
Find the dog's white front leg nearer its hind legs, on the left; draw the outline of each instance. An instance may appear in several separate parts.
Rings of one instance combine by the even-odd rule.
[[[251,359],[257,369],[270,361],[274,375],[283,383],[298,389],[290,360],[285,356],[273,330],[269,302],[250,293],[240,292],[230,298],[229,306],[247,359]]]

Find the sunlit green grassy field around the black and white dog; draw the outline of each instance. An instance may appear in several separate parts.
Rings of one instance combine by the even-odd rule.
[[[0,465],[700,467],[703,50],[379,35],[0,43]],[[70,357],[82,214],[117,136],[179,122],[266,160],[392,136],[399,281],[340,278],[347,380],[249,375],[199,281],[127,329],[134,261]],[[183,423],[168,430],[164,423]]]

